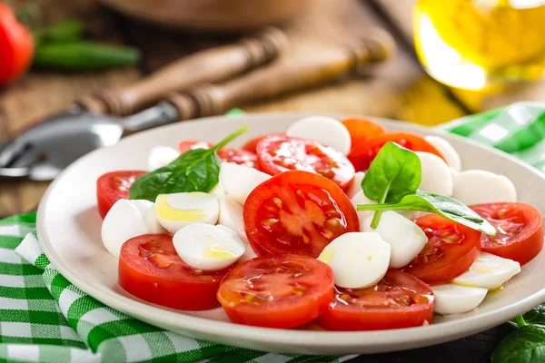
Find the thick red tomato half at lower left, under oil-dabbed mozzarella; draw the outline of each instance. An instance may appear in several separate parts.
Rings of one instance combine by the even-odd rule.
[[[212,309],[227,270],[195,270],[180,259],[170,234],[145,234],[124,242],[119,285],[135,297],[167,308]]]

